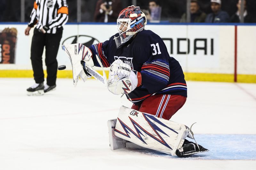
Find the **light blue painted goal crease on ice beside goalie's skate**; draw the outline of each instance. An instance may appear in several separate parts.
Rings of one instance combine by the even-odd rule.
[[[172,159],[256,160],[256,134],[195,134],[194,137],[198,144],[210,151],[198,153],[188,158],[177,158],[148,149],[137,151]],[[189,138],[188,140],[193,141]]]

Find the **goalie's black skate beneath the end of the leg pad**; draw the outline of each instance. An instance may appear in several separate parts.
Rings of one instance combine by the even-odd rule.
[[[199,147],[199,148],[198,148]],[[201,153],[201,152],[207,152],[209,151],[208,149],[205,149],[203,146],[189,142],[188,140],[185,139],[184,144],[180,149],[177,149],[176,155],[178,157],[186,157],[189,155],[194,155],[196,153]]]

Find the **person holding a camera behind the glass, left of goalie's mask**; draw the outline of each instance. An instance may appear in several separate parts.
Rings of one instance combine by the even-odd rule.
[[[120,0],[98,0],[94,12],[96,22],[116,22],[122,9]]]

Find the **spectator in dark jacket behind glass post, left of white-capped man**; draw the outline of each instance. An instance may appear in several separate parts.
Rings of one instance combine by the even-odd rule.
[[[204,22],[206,14],[200,10],[200,6],[197,0],[191,0],[190,2],[190,22]],[[187,22],[187,15],[184,13],[181,16],[180,22]]]

